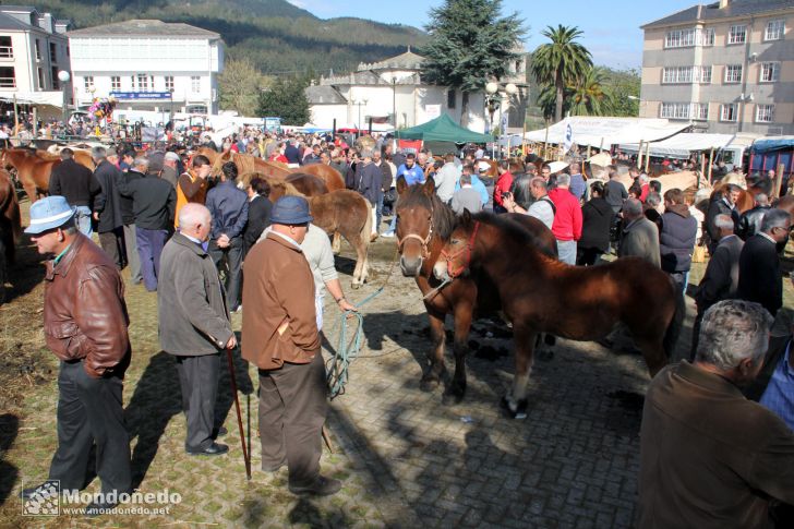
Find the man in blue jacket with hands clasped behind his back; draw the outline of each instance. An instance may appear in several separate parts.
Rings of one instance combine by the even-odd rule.
[[[242,230],[248,221],[248,195],[237,188],[237,166],[227,161],[221,168],[220,183],[207,192],[206,206],[213,216],[207,253],[220,267],[226,259],[229,273],[226,276],[226,291],[229,310],[240,308],[242,265]]]

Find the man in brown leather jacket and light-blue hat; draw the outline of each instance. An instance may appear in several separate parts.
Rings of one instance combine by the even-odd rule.
[[[131,492],[130,440],[122,389],[131,349],[124,284],[116,265],[91,239],[77,232],[74,207],[63,196],[31,206],[25,230],[40,254],[53,254],[45,276],[44,334],[61,360],[58,375],[58,449],[49,480],[61,490],[82,490],[88,454],[96,444],[96,470],[103,501],[86,514],[101,514]],[[23,491],[32,497],[36,488]]]

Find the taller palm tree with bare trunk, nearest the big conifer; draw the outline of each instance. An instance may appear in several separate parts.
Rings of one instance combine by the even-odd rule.
[[[563,119],[565,86],[576,84],[592,68],[592,56],[587,48],[574,41],[582,34],[578,27],[562,24],[556,28],[546,26],[541,34],[551,43],[542,44],[534,50],[532,73],[539,83],[556,88],[554,121],[560,121]]]

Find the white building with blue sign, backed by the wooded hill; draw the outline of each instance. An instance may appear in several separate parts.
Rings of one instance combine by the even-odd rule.
[[[132,20],[69,32],[74,96],[118,99],[117,112],[217,113],[220,35],[181,23]]]

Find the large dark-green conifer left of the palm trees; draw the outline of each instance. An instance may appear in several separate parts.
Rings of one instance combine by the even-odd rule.
[[[430,10],[425,26],[430,41],[422,47],[426,58],[422,76],[430,83],[459,89],[462,94],[460,124],[466,125],[469,94],[481,92],[491,79],[507,73],[518,59],[516,45],[524,35],[518,13],[500,17],[502,0],[445,0]]]

